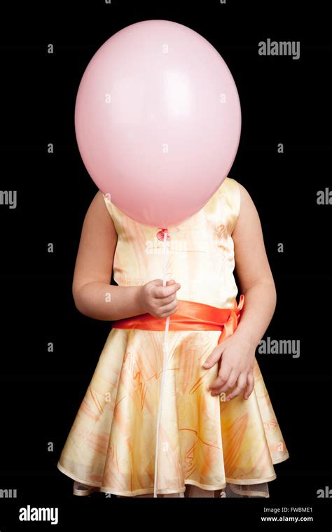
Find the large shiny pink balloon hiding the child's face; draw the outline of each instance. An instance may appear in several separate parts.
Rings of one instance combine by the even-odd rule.
[[[90,60],[75,106],[78,148],[99,190],[144,225],[198,212],[233,165],[237,88],[219,52],[192,29],[145,20]]]

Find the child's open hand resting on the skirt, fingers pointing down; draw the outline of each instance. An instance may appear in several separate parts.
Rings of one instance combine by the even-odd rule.
[[[235,331],[236,332],[236,331]],[[248,344],[245,339],[239,339],[235,334],[223,340],[212,351],[203,367],[212,367],[219,359],[219,377],[209,386],[212,395],[220,395],[222,392],[233,391],[226,396],[229,401],[244,390],[244,399],[248,399],[254,390],[254,358],[255,347]]]

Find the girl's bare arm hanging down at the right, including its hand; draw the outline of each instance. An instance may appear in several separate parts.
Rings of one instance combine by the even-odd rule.
[[[212,395],[232,390],[226,400],[244,390],[247,399],[253,391],[256,347],[268,328],[277,302],[261,221],[249,193],[240,183],[239,186],[241,207],[232,237],[235,271],[241,293],[245,295],[244,307],[233,335],[221,342],[204,364],[204,367],[211,367],[221,359],[219,376],[209,389]]]

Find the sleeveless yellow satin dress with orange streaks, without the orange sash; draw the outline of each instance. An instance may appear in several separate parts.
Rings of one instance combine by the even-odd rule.
[[[160,279],[158,229],[133,221],[103,197],[118,233],[116,283]],[[167,280],[181,284],[179,300],[233,307],[238,290],[231,234],[239,212],[240,188],[226,178],[197,214],[168,228]],[[184,493],[188,484],[220,490],[226,483],[253,486],[275,479],[273,465],[289,454],[256,359],[249,399],[240,395],[225,402],[207,389],[218,365],[202,368],[220,331],[168,335],[158,493]],[[153,493],[163,337],[162,331],[109,332],[57,463],[65,475],[118,496]]]

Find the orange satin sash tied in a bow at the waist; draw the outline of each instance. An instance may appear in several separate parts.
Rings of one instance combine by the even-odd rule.
[[[218,344],[233,334],[240,321],[244,295],[239,304],[230,309],[219,309],[209,304],[179,300],[179,309],[170,316],[169,330],[220,330]],[[167,318],[155,318],[148,312],[112,322],[116,329],[165,330]]]

